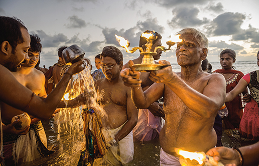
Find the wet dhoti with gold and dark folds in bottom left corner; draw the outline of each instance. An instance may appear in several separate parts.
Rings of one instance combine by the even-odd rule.
[[[32,124],[26,135],[4,135],[3,142],[3,165],[31,162],[54,152],[47,148],[47,138],[41,121]]]

